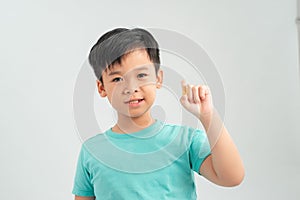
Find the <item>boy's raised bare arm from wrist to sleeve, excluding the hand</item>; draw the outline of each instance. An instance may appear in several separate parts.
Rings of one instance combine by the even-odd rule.
[[[218,185],[239,185],[244,167],[238,150],[216,111],[209,118],[200,118],[211,145],[211,155],[202,163],[200,174]]]

